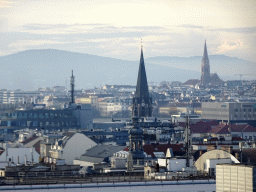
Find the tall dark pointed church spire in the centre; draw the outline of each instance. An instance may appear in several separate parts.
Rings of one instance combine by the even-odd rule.
[[[136,93],[133,98],[132,117],[151,117],[152,98],[148,92],[148,82],[141,47],[140,67],[137,79]]]

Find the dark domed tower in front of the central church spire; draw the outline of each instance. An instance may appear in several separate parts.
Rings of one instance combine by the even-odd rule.
[[[133,117],[133,126],[129,131],[129,155],[132,157],[130,161],[132,160],[133,164],[144,164],[144,150],[142,147],[142,141],[143,141],[143,130],[138,125],[138,117]],[[129,165],[129,162],[128,162]]]

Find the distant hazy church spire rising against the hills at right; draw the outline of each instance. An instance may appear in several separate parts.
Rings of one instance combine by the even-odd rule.
[[[211,75],[210,75],[210,64],[209,58],[206,48],[206,40],[204,44],[204,55],[202,59],[202,66],[201,66],[201,85],[207,86],[210,83]]]

